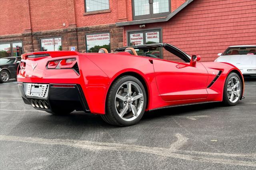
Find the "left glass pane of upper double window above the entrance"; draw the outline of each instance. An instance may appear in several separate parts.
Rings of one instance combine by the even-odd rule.
[[[134,0],[134,15],[148,15],[150,14],[150,7],[148,0]]]

